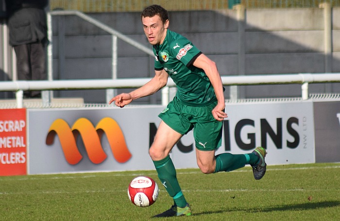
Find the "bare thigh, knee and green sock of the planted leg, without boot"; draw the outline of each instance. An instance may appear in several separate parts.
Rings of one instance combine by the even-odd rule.
[[[182,137],[182,134],[171,129],[163,121],[160,123],[153,144],[149,150],[158,177],[174,204],[186,207],[187,201],[177,180],[176,170],[169,156],[172,147]]]

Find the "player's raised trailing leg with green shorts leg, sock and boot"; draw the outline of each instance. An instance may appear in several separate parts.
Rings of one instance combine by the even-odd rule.
[[[223,122],[217,121],[211,114],[211,109],[216,105],[197,109],[200,118],[194,124],[194,138],[196,145],[197,164],[205,174],[218,173],[221,171],[229,172],[250,164],[254,171],[255,179],[260,179],[265,171],[265,150],[257,147],[250,154],[230,154],[222,153],[215,156],[215,150],[221,146]],[[263,165],[258,167],[258,165]],[[261,172],[260,172],[261,171]]]

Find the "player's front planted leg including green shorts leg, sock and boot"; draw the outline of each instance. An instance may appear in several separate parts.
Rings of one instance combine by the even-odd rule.
[[[159,179],[173,198],[174,205],[156,217],[191,215],[190,206],[178,184],[175,167],[169,157],[175,143],[192,128],[190,122],[184,117],[183,110],[183,104],[175,96],[167,108],[158,115],[162,122],[150,148],[150,156]]]

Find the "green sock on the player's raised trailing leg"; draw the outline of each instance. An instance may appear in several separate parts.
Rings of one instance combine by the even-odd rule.
[[[254,165],[259,160],[254,154],[230,154],[223,153],[215,156],[216,168],[214,173],[221,171],[230,172],[244,167],[246,164]]]

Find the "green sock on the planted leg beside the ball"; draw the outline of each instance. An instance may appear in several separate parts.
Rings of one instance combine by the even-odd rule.
[[[158,178],[168,191],[169,195],[173,198],[174,204],[179,207],[186,207],[187,201],[179,186],[176,169],[170,156],[168,155],[162,160],[153,161],[153,164],[158,173]]]

